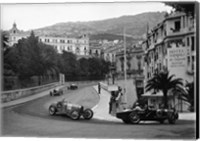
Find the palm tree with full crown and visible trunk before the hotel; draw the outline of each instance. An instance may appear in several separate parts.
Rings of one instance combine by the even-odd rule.
[[[160,72],[158,74],[155,74],[154,77],[147,81],[146,90],[154,90],[162,91],[163,92],[163,101],[164,101],[164,107],[168,108],[168,92],[169,90],[173,89],[181,89],[181,86],[183,86],[182,79],[176,78],[173,79],[175,75],[169,76],[169,71]]]

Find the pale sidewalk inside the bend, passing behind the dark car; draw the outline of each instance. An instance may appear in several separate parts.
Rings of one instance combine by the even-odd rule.
[[[97,86],[94,86],[94,89],[98,92]],[[101,94],[99,96],[99,103],[92,109],[94,111],[93,118],[106,121],[122,122],[121,119],[118,119],[108,113],[110,93],[104,89],[101,89]],[[179,113],[179,120],[196,120],[196,113]]]

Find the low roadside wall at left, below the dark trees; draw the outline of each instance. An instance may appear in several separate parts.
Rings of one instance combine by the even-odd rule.
[[[42,91],[57,87],[59,85],[60,85],[59,82],[55,82],[55,83],[37,86],[37,87],[32,87],[32,88],[3,91],[3,92],[1,92],[1,102],[6,103],[6,102],[9,102],[9,101],[13,101],[13,100],[16,100],[16,99],[20,99],[20,98],[23,98],[23,97],[34,95],[34,94],[40,93]]]

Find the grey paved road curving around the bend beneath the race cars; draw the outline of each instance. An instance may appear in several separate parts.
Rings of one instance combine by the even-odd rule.
[[[95,106],[99,96],[93,87],[66,91],[64,96],[44,96],[2,111],[3,136],[80,137],[80,138],[134,138],[134,139],[185,139],[194,138],[195,122],[179,120],[175,125],[141,123],[127,125],[118,121],[91,119],[72,121],[65,116],[49,116],[48,105],[62,97],[87,107]]]

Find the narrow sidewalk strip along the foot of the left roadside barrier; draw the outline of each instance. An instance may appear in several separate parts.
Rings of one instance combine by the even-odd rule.
[[[57,86],[57,88],[62,88],[63,86]],[[38,94],[34,94],[34,95],[31,95],[31,96],[27,96],[27,97],[24,97],[24,98],[20,98],[20,99],[17,99],[17,100],[13,100],[13,101],[9,101],[9,102],[6,102],[6,103],[1,103],[1,108],[4,108],[4,107],[9,107],[9,106],[14,106],[14,105],[17,105],[17,104],[22,104],[22,103],[25,103],[25,102],[28,102],[28,101],[31,101],[31,100],[34,100],[34,99],[37,99],[37,98],[40,98],[40,97],[43,97],[43,96],[46,96],[49,94],[50,91],[52,91],[53,89],[55,88],[52,88],[52,89],[49,89],[49,90],[46,90],[46,91],[43,91],[43,92],[40,92]]]

